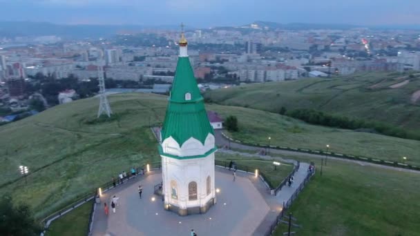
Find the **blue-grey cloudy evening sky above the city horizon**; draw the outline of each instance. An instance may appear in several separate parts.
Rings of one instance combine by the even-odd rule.
[[[256,20],[418,25],[420,0],[0,0],[0,21],[207,27]]]

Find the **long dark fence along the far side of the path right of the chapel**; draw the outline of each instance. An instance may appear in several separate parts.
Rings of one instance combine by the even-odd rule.
[[[371,163],[379,164],[379,165],[394,166],[394,167],[398,167],[398,168],[406,168],[406,169],[411,169],[411,170],[420,170],[420,166],[413,166],[413,165],[401,163],[401,162],[398,162],[398,161],[387,161],[387,160],[382,160],[382,159],[374,159],[374,158],[371,158],[371,157],[358,157],[358,156],[354,156],[354,155],[327,152],[325,150],[311,150],[311,149],[307,149],[307,148],[289,148],[289,147],[285,147],[285,146],[271,146],[271,145],[269,146],[269,145],[264,145],[264,144],[256,144],[256,143],[250,143],[250,142],[247,142],[247,141],[240,141],[240,140],[232,139],[232,138],[228,137],[227,135],[225,135],[224,132],[222,132],[222,135],[223,135],[223,137],[225,137],[226,139],[229,139],[232,142],[235,142],[237,144],[247,145],[247,146],[255,146],[255,147],[259,147],[259,148],[271,148],[271,149],[278,149],[278,150],[289,150],[289,151],[299,152],[299,153],[310,153],[310,154],[314,154],[314,155],[324,155],[326,157],[328,156],[328,157],[338,157],[338,158],[343,158],[343,159],[354,159],[354,160],[357,160],[357,161],[367,161],[367,162],[371,162]]]

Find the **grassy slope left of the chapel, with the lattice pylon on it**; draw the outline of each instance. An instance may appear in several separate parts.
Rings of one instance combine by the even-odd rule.
[[[112,176],[159,161],[151,121],[162,120],[166,97],[114,95],[116,119],[93,122],[97,98],[56,106],[0,128],[0,194],[27,201],[37,217],[93,191]],[[28,184],[19,166],[29,167]]]

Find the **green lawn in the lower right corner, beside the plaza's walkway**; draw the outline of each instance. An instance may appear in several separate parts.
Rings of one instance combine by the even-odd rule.
[[[418,173],[331,160],[320,176],[312,161],[318,173],[289,209],[296,235],[419,235]],[[280,224],[274,235],[284,232]]]

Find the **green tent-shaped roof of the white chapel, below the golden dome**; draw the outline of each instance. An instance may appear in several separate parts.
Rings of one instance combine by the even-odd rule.
[[[191,95],[189,100],[187,93]],[[179,57],[161,132],[162,141],[172,136],[182,146],[184,141],[194,137],[204,144],[209,133],[213,135],[213,128],[207,118],[204,99],[195,81],[189,57]]]

